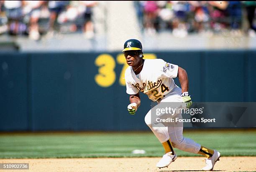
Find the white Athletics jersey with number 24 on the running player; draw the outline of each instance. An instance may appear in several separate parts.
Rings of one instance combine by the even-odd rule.
[[[178,66],[162,59],[145,59],[141,72],[136,76],[131,66],[125,70],[126,92],[135,95],[139,91],[152,101],[162,99],[174,88]]]

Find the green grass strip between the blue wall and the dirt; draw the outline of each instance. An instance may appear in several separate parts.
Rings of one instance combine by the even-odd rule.
[[[217,149],[222,156],[256,156],[256,130],[185,131],[184,137]],[[133,150],[146,154],[132,154]],[[181,156],[199,156],[177,150]],[[0,158],[160,157],[151,132],[0,134]]]

